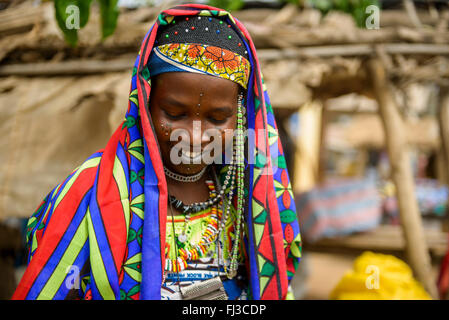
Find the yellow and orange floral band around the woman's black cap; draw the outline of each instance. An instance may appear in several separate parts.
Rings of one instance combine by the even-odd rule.
[[[175,68],[178,69],[176,71],[204,73],[247,88],[251,66],[245,57],[235,52],[204,44],[171,43],[154,48],[153,53],[160,59],[159,65],[162,61],[166,63],[166,67],[153,70],[168,68],[165,71],[170,71],[170,68]]]

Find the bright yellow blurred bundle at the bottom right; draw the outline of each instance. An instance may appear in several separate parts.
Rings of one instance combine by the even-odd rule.
[[[430,300],[402,260],[364,252],[330,294],[333,300]]]

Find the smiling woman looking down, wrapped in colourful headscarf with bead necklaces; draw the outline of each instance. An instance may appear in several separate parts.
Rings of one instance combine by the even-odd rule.
[[[123,124],[44,199],[28,244],[14,299],[286,298],[299,228],[240,22],[204,5],[159,15]]]

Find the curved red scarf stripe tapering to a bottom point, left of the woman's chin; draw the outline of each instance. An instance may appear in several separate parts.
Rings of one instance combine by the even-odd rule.
[[[122,267],[126,251],[127,229],[125,212],[123,211],[120,192],[113,176],[113,169],[118,143],[121,136],[126,133],[126,130],[122,130],[119,127],[108,141],[101,157],[96,194],[117,274],[119,274]]]

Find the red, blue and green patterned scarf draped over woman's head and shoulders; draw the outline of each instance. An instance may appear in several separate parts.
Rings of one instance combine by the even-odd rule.
[[[13,299],[160,299],[167,183],[149,105],[148,62],[159,28],[174,17],[218,17],[236,31],[251,63],[247,126],[261,129],[245,171],[247,270],[252,299],[284,299],[301,254],[286,161],[254,44],[226,11],[181,5],[163,11],[134,64],[128,111],[106,147],[44,199],[28,222],[29,265]],[[81,278],[79,283],[76,279]]]

